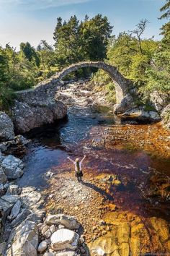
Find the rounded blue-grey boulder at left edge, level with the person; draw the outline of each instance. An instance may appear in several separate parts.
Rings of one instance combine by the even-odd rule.
[[[1,163],[1,168],[8,179],[18,179],[24,173],[22,171],[24,163],[19,158],[14,157],[14,155],[6,156]]]

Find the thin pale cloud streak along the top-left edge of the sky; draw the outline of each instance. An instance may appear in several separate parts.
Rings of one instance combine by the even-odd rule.
[[[48,9],[63,5],[82,4],[93,0],[0,0],[0,7],[21,7],[27,9]]]

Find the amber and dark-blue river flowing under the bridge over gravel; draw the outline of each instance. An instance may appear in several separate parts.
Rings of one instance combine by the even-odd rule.
[[[91,255],[104,255],[104,248],[121,256],[168,252],[169,132],[160,124],[121,120],[94,98],[82,85],[61,91],[68,116],[27,134],[32,141],[18,184],[40,189],[50,213],[75,215]],[[67,157],[84,155],[84,184],[78,184]]]

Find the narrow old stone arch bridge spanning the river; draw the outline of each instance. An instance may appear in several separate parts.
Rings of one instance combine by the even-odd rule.
[[[71,66],[63,69],[60,73],[50,77],[50,79],[40,82],[35,88],[35,91],[44,91],[48,94],[55,93],[56,87],[63,77],[66,77],[67,74],[84,67],[96,67],[97,69],[102,69],[104,72],[109,74],[109,77],[111,77],[115,83],[117,103],[121,103],[122,99],[125,98],[132,88],[134,88],[133,82],[123,77],[116,67],[102,61],[83,61],[77,64],[72,64]]]

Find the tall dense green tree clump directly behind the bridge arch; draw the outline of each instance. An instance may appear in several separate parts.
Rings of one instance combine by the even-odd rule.
[[[60,67],[83,60],[103,60],[111,33],[112,27],[107,17],[102,17],[101,14],[90,20],[86,16],[81,22],[76,15],[68,22],[58,18],[53,38]]]

